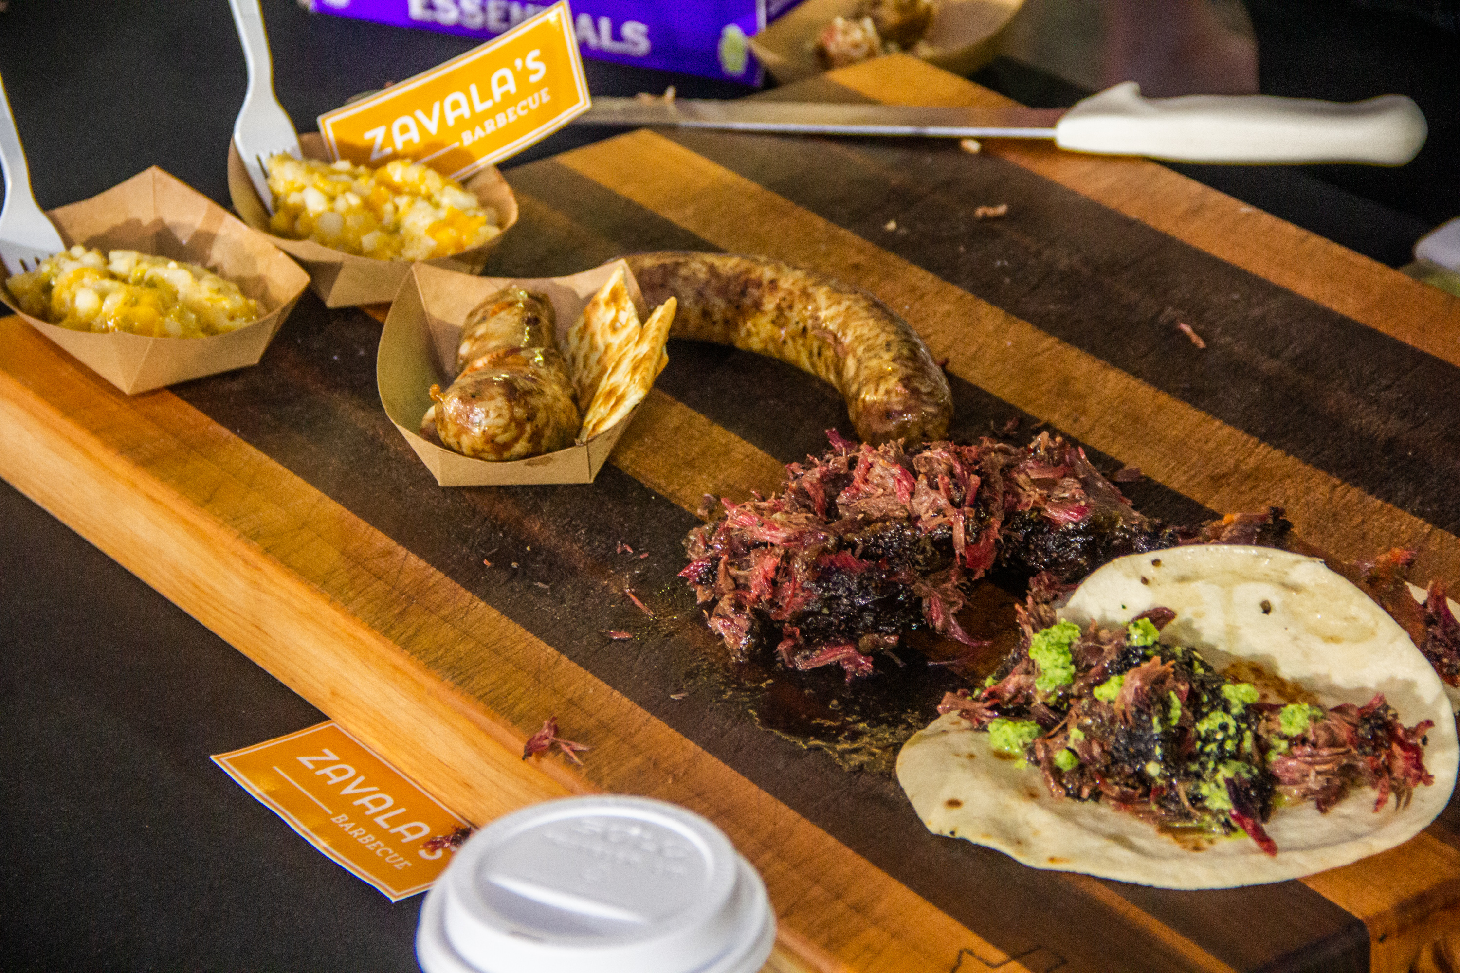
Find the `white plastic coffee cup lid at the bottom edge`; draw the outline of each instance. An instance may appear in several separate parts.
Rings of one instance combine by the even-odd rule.
[[[629,796],[549,801],[472,836],[426,893],[426,973],[756,973],[765,884],[714,824]]]

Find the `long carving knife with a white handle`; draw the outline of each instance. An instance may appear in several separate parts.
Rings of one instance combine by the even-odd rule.
[[[1425,115],[1403,95],[1352,104],[1270,95],[1142,98],[1134,82],[1067,109],[594,98],[575,123],[813,136],[1053,139],[1070,152],[1228,163],[1405,165],[1428,134]]]

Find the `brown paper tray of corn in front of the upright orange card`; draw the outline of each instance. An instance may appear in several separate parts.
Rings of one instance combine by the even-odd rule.
[[[307,159],[328,159],[324,150],[324,140],[320,133],[310,131],[299,136],[299,149]],[[463,274],[482,273],[492,248],[502,239],[502,233],[517,223],[517,197],[512,187],[498,172],[496,166],[482,169],[463,184],[485,206],[496,212],[496,226],[502,232],[486,241],[480,247],[464,249],[451,257],[437,257],[426,260],[432,267],[457,270]],[[404,260],[372,260],[356,257],[339,249],[330,249],[323,244],[310,239],[288,239],[269,232],[269,212],[263,200],[254,191],[254,184],[248,179],[244,159],[238,155],[238,146],[228,143],[228,194],[234,200],[234,209],[248,226],[269,236],[274,247],[292,255],[305,270],[310,271],[310,282],[314,293],[327,308],[353,308],[362,303],[384,303],[396,296],[410,261]]]

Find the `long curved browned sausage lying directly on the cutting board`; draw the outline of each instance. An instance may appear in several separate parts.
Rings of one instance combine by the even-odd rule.
[[[917,331],[872,295],[765,257],[663,251],[625,260],[650,305],[679,302],[672,338],[768,354],[831,382],[864,442],[948,438],[948,378]]]

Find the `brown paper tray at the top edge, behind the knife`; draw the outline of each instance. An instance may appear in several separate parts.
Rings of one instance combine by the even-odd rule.
[[[750,38],[750,50],[780,83],[821,74],[816,35],[835,16],[851,16],[860,0],[807,0]],[[955,74],[993,60],[1004,28],[1023,0],[939,0],[927,35],[911,54]],[[926,48],[924,48],[926,45]]]

